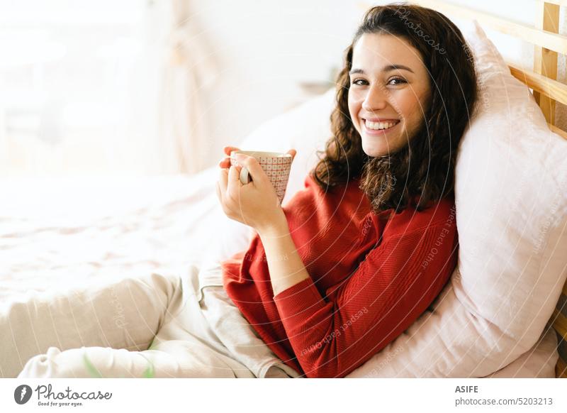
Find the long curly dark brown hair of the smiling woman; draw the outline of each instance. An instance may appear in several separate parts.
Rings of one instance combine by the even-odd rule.
[[[408,145],[376,158],[364,153],[348,105],[352,51],[364,33],[390,34],[408,41],[420,52],[430,73],[432,91],[422,126]],[[426,38],[442,40],[442,48],[440,43]],[[360,178],[359,187],[376,213],[388,209],[399,212],[408,205],[421,211],[453,193],[456,152],[477,96],[470,50],[449,18],[438,11],[405,3],[372,7],[345,50],[331,114],[333,136],[325,150],[318,151],[319,162],[310,174],[325,191]]]

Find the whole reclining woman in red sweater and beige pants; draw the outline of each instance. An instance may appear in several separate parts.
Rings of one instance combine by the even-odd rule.
[[[453,170],[476,100],[464,45],[435,11],[370,9],[305,189],[282,208],[253,158],[241,159],[248,185],[220,163],[223,211],[257,232],[246,251],[188,276],[4,305],[1,377],[342,377],[359,367],[456,265]]]

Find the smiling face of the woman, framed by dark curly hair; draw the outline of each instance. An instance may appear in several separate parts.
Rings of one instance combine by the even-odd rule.
[[[430,77],[420,53],[403,38],[364,33],[354,45],[349,113],[366,155],[408,145],[424,122]]]

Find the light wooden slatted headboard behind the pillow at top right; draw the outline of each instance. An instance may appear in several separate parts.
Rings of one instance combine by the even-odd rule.
[[[556,101],[567,105],[567,85],[557,81],[557,55],[567,55],[567,36],[558,34],[559,7],[567,6],[567,0],[536,0],[534,6],[537,6],[538,14],[534,26],[442,0],[410,0],[408,3],[440,11],[449,18],[476,19],[482,26],[532,43],[535,48],[533,70],[522,70],[507,62],[510,73],[533,89],[534,98],[551,131],[567,139],[567,131],[555,124]],[[360,6],[366,10],[371,7],[371,3],[364,2]]]

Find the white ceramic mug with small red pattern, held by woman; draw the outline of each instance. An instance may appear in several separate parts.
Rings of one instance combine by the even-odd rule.
[[[291,169],[291,160],[293,157],[288,153],[281,152],[261,152],[259,150],[232,150],[230,152],[230,165],[239,165],[235,155],[237,153],[244,153],[245,155],[252,156],[258,160],[258,163],[268,175],[271,185],[276,189],[278,194],[279,203],[283,200],[283,195],[286,194],[286,187],[288,185],[289,171]],[[252,180],[245,167],[240,170],[240,182],[247,184]]]

